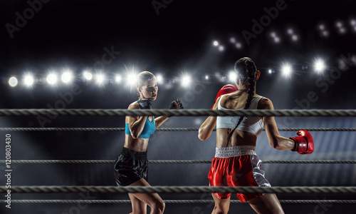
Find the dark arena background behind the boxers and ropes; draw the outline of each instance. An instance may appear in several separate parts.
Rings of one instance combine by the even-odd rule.
[[[28,1],[40,2],[40,1]],[[355,1],[285,1],[276,19],[247,44],[242,31],[252,33],[253,19],[260,21],[277,1],[48,1],[26,24],[9,34],[6,25],[16,25],[17,12],[31,8],[27,1],[0,1],[0,108],[127,108],[137,98],[127,85],[128,72],[161,73],[154,108],[167,108],[179,98],[185,108],[210,108],[216,91],[229,81],[234,62],[249,56],[261,71],[256,92],[271,98],[276,109],[352,109],[355,107],[356,51]],[[38,6],[39,4],[37,4]],[[29,14],[28,16],[31,16]],[[339,34],[337,21],[347,30]],[[320,36],[324,24],[329,36]],[[287,30],[298,35],[292,41]],[[273,42],[271,32],[281,41]],[[234,37],[241,49],[231,43]],[[219,41],[224,51],[213,46]],[[119,51],[108,64],[100,63],[105,48]],[[323,58],[326,69],[315,73],[315,58]],[[346,58],[346,59],[345,59]],[[110,60],[110,58],[105,58]],[[281,66],[293,68],[283,76]],[[98,66],[99,65],[99,66]],[[101,67],[100,67],[101,65]],[[305,69],[305,66],[308,68]],[[48,72],[69,68],[71,84],[46,84]],[[107,76],[103,86],[83,81],[83,71]],[[268,73],[268,70],[273,73]],[[23,86],[21,78],[31,72],[36,82]],[[122,75],[115,83],[115,74]],[[189,73],[194,80],[181,86]],[[9,78],[19,85],[11,88]],[[204,77],[209,76],[206,80]],[[76,88],[77,94],[70,90]],[[311,99],[308,94],[313,94]],[[61,106],[60,103],[65,103]],[[199,127],[205,117],[173,117],[162,127]],[[279,128],[354,128],[355,118],[276,118]],[[1,127],[124,127],[124,117],[47,118],[1,117]],[[123,132],[15,132],[11,134],[13,160],[114,160],[124,143]],[[262,160],[355,160],[355,133],[311,132],[315,151],[300,156],[276,151],[266,134],[258,138],[256,152]],[[281,132],[295,136],[295,132]],[[4,137],[5,138],[5,137]],[[4,139],[3,138],[3,139]],[[4,160],[5,139],[0,146]],[[197,132],[156,132],[150,138],[150,160],[210,160],[214,156],[215,133],[199,141]],[[115,185],[110,164],[13,164],[11,185]],[[351,164],[263,164],[273,186],[355,185],[356,168]],[[5,185],[0,165],[0,185]],[[209,164],[151,164],[151,185],[208,185]],[[93,194],[96,199],[128,199],[126,194]],[[12,194],[15,199],[85,199],[79,194]],[[163,199],[211,199],[207,194],[161,194]],[[355,199],[355,195],[278,195],[280,199]],[[236,195],[232,196],[236,199]],[[3,200],[3,199],[1,199]],[[76,204],[12,203],[11,212],[1,204],[1,213],[75,213]],[[85,208],[84,208],[85,207]],[[355,205],[283,204],[286,213],[355,213]],[[130,213],[129,204],[91,204],[80,213]],[[211,204],[167,204],[165,213],[211,213]],[[342,209],[342,210],[341,210]],[[230,213],[253,213],[248,204],[231,204]]]

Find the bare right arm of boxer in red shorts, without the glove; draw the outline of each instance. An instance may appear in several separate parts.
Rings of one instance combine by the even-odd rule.
[[[258,102],[258,109],[273,110],[273,103],[268,98],[262,98],[261,101]],[[279,134],[274,117],[264,116],[262,120],[266,130],[269,145],[272,148],[276,148],[278,150],[291,150],[294,148],[295,143],[293,140],[284,138]]]

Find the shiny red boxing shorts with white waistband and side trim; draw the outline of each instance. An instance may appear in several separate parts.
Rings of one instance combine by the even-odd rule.
[[[216,148],[209,170],[210,186],[271,186],[260,169],[261,160],[254,146]],[[219,199],[230,198],[231,193],[214,193]],[[241,202],[257,198],[262,193],[236,193]]]

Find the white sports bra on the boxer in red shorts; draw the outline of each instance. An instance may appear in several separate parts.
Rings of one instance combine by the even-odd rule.
[[[224,95],[221,96],[219,100],[218,109],[229,110],[229,108],[223,108],[220,104],[223,97]],[[261,98],[263,98],[263,96],[253,98],[248,109],[257,109],[258,102],[261,100]],[[216,119],[216,128],[235,128],[235,126],[239,122],[239,119],[240,116],[218,116],[218,118]],[[245,116],[236,129],[241,131],[247,131],[258,136],[263,130],[263,122],[261,118],[258,118],[256,116]]]

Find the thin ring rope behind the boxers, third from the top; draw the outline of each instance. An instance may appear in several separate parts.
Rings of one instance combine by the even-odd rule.
[[[149,163],[211,163],[209,160],[152,160]],[[0,160],[6,163],[6,160]],[[11,160],[11,163],[115,163],[113,160]],[[356,161],[262,161],[262,163],[356,163]]]

